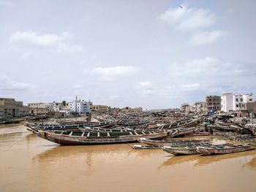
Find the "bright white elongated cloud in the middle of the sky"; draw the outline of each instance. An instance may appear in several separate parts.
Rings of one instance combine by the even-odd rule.
[[[120,77],[128,77],[138,72],[135,66],[111,66],[96,67],[92,69],[92,74],[97,74],[100,80],[113,81]]]

